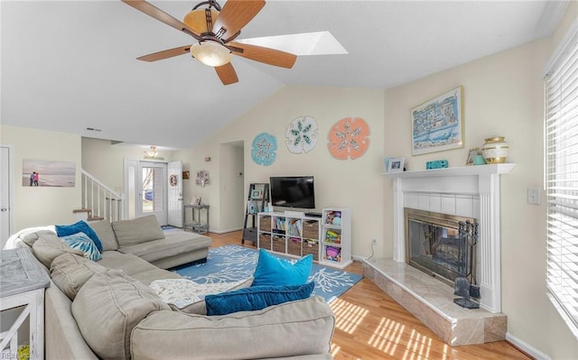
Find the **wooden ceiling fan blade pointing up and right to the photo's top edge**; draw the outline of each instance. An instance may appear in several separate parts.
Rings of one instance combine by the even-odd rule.
[[[230,38],[247,25],[263,6],[265,0],[228,0],[213,25],[213,33],[221,39]]]

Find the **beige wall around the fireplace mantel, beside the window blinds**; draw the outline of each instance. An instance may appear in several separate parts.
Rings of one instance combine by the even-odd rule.
[[[385,92],[385,153],[406,158],[408,170],[425,162],[447,159],[462,166],[471,147],[498,134],[509,144],[514,170],[501,187],[502,311],[508,315],[508,336],[553,359],[578,358],[578,341],[564,325],[545,293],[545,197],[527,204],[527,188],[543,188],[543,80],[545,63],[565,28],[576,19],[573,3],[551,39],[449,69]],[[563,30],[564,29],[564,30]],[[411,154],[409,109],[443,92],[463,86],[465,146],[460,150]],[[381,254],[393,249],[391,180],[384,180],[387,239]],[[519,343],[521,341],[521,343]]]

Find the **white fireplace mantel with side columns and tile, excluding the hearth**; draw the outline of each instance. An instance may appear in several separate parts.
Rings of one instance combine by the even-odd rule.
[[[385,173],[393,180],[394,260],[406,262],[404,208],[478,217],[480,307],[500,312],[499,175],[515,166],[500,163]],[[461,213],[468,208],[472,214]]]

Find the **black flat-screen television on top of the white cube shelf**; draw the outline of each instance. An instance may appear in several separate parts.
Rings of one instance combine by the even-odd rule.
[[[272,176],[269,184],[274,207],[315,208],[312,176]]]

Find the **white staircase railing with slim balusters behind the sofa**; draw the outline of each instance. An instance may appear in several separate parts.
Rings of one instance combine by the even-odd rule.
[[[72,210],[79,220],[117,221],[123,219],[122,195],[100,182],[89,172],[82,170],[82,208]]]

